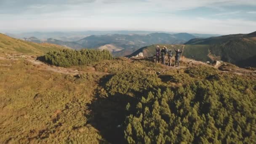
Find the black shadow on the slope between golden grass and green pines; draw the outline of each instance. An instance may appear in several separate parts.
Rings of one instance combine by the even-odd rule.
[[[125,106],[134,98],[117,93],[113,96],[103,96],[106,83],[113,75],[107,75],[100,80],[99,89],[96,91],[96,100],[88,104],[91,110],[88,123],[96,128],[100,135],[112,144],[125,143],[122,123],[125,121]]]

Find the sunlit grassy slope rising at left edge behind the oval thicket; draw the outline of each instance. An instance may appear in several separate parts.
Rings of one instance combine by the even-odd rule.
[[[26,53],[39,55],[59,49],[64,49],[64,47],[48,43],[32,43],[0,34],[0,53]]]

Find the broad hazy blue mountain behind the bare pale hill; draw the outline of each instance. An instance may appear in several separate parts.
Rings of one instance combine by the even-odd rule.
[[[85,48],[97,48],[106,44],[115,44],[118,47],[128,50],[136,50],[140,47],[154,44],[154,43],[167,43],[177,44],[195,38],[195,36],[182,33],[182,34],[167,34],[167,33],[152,33],[149,35],[92,35],[78,40],[76,43],[83,45]]]

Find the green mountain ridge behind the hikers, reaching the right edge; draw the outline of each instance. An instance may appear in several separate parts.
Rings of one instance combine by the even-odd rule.
[[[184,56],[199,60],[222,60],[240,67],[256,67],[256,32],[250,34],[224,35],[206,39],[195,38],[185,44]],[[160,45],[163,47],[163,45]],[[173,49],[182,45],[166,45]],[[135,51],[128,56],[143,52],[144,56],[154,56],[156,45],[150,45]]]

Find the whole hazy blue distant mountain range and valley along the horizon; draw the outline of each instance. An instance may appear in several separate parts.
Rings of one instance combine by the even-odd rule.
[[[213,37],[212,34],[188,34],[154,31],[84,31],[84,32],[25,32],[6,35],[35,43],[52,43],[73,48],[107,49],[114,56],[125,56],[141,47],[155,43],[181,44],[193,38]],[[122,51],[116,51],[116,48]]]

